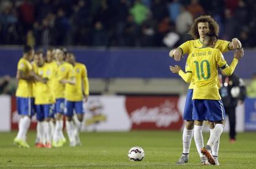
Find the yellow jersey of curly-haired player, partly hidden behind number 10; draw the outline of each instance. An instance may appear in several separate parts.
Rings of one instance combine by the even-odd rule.
[[[229,48],[228,48],[229,43],[230,43],[229,41],[223,41],[221,39],[218,39],[218,41],[216,41],[215,48],[220,49],[222,53],[227,52],[229,51]],[[203,46],[203,43],[200,41],[200,39],[196,39],[196,40],[186,41],[185,43],[182,43],[181,46],[179,46],[179,48],[181,49],[182,54],[190,54],[195,49],[198,49],[202,46]],[[193,81],[191,81],[189,85],[189,89],[193,89]]]

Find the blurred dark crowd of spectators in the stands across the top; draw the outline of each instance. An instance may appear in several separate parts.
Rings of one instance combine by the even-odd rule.
[[[0,44],[32,46],[177,46],[199,15],[220,38],[255,47],[254,0],[1,0]]]

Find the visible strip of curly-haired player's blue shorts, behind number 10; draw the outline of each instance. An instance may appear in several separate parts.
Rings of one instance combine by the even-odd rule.
[[[193,89],[189,89],[187,91],[187,97],[186,97],[184,113],[183,113],[183,119],[184,120],[193,120],[193,117],[192,117],[192,113],[193,113],[192,96],[193,96]]]

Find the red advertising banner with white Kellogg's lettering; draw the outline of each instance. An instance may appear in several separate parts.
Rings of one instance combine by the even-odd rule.
[[[180,130],[183,119],[178,100],[178,96],[127,96],[131,130]]]

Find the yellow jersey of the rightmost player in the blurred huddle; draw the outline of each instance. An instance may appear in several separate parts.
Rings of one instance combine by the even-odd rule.
[[[75,63],[74,71],[75,85],[66,84],[65,99],[67,101],[82,101],[83,94],[87,96],[89,94],[87,68],[83,64]]]

